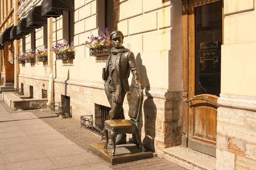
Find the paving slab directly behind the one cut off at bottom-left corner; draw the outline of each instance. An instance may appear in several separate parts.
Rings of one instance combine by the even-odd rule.
[[[2,156],[6,164],[20,162],[20,161],[29,161],[29,160],[47,158],[47,156],[40,149],[14,152],[14,153],[5,153],[5,154],[2,154]]]

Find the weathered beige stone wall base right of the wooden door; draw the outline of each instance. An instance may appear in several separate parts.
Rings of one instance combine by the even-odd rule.
[[[218,99],[216,170],[256,170],[256,97]]]

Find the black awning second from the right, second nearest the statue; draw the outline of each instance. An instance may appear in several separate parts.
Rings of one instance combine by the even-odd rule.
[[[44,24],[47,24],[47,17],[42,17],[41,12],[41,6],[35,6],[32,8],[26,17],[26,27],[41,28]]]

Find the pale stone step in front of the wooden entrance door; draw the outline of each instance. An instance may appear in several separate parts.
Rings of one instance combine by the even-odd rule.
[[[215,170],[215,157],[186,147],[165,148],[163,154],[165,159],[188,170]]]

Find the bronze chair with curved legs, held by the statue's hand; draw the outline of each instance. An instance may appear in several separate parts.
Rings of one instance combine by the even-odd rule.
[[[141,146],[142,151],[145,152],[145,148],[141,142],[141,136],[139,132],[139,122],[140,113],[142,110],[143,103],[143,90],[142,88],[134,88],[131,91],[131,102],[129,106],[128,115],[130,120],[127,119],[116,119],[116,120],[106,120],[104,125],[104,134],[106,138],[106,143],[104,149],[108,147],[108,131],[111,134],[111,140],[113,143],[112,156],[115,156],[116,151],[116,136],[118,134],[129,133],[132,134],[135,144],[137,147]]]

